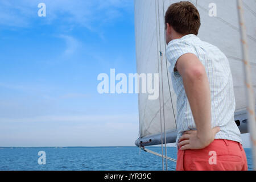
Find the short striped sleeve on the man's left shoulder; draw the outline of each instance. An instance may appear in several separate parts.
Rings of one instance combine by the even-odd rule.
[[[189,42],[182,39],[172,40],[167,46],[167,60],[170,62],[170,73],[174,72],[175,65],[180,56],[185,53],[193,53],[197,56],[196,49]]]

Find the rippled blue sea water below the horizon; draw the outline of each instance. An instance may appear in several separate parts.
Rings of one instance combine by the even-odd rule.
[[[161,147],[148,147],[161,153]],[[44,151],[46,164],[39,164]],[[252,170],[250,148],[245,148]],[[177,149],[167,147],[167,155],[176,159]],[[164,160],[165,162],[165,160]],[[176,163],[168,161],[168,170]],[[71,170],[71,171],[156,171],[162,170],[162,158],[140,151],[138,147],[38,147],[0,148],[0,170]]]

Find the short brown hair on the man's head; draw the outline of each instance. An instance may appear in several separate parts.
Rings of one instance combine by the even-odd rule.
[[[183,35],[197,35],[201,26],[199,11],[188,1],[172,4],[166,11],[165,21]]]

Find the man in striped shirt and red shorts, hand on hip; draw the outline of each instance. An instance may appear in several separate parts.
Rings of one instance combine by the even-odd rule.
[[[200,14],[190,2],[165,16],[167,59],[177,94],[177,170],[247,170],[227,57],[197,34]]]

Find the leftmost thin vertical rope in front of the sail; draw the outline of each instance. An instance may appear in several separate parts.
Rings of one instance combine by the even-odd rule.
[[[156,1],[155,0],[155,22],[156,22],[156,35],[158,34],[158,28],[157,28],[157,13],[156,13]],[[160,31],[160,30],[159,30]],[[158,36],[156,36],[156,42],[158,47]],[[159,48],[157,48],[157,51],[159,52]],[[159,54],[158,54],[158,73],[160,72],[159,69]],[[158,78],[158,87],[159,87],[159,105],[160,105],[160,129],[161,129],[161,148],[162,148],[162,168],[164,171],[164,155],[163,155],[163,132],[162,132],[162,110],[161,110],[161,94],[160,94],[160,77]]]

